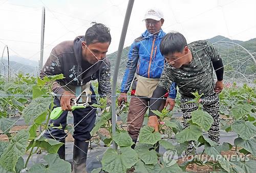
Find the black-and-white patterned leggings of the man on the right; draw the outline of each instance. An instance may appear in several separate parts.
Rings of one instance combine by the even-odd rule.
[[[189,126],[189,124],[187,123],[187,120],[191,118],[191,112],[198,109],[197,104],[186,103],[188,101],[191,101],[191,98],[181,98],[181,111],[183,113],[183,129]],[[217,144],[220,144],[220,127],[219,127],[220,103],[219,103],[218,94],[212,93],[211,95],[202,98],[201,104],[203,106],[203,110],[208,112],[214,119],[214,123],[212,123],[210,129],[208,130],[208,137],[212,141],[215,141]],[[196,154],[195,146],[196,146],[195,141],[189,141],[185,154],[186,155]]]

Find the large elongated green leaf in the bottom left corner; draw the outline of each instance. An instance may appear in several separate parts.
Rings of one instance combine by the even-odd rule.
[[[16,162],[26,151],[29,133],[26,130],[19,131],[0,157],[0,164],[8,171],[14,171]]]

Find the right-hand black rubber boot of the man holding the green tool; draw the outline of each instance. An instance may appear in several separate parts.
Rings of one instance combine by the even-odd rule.
[[[86,172],[86,159],[88,152],[88,141],[74,140],[73,147],[73,173]]]

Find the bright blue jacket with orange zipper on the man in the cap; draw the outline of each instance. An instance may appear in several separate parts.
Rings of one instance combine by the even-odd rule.
[[[121,92],[127,93],[130,89],[135,72],[145,78],[160,78],[164,69],[164,57],[160,52],[161,39],[166,35],[162,30],[158,35],[152,35],[147,30],[141,37],[135,39],[131,45],[128,62],[124,72]],[[176,98],[176,83],[170,86],[168,96]]]

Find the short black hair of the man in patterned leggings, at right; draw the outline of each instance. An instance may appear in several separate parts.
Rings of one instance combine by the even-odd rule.
[[[182,52],[187,45],[185,37],[179,32],[170,32],[166,34],[160,43],[160,52],[162,55]]]

